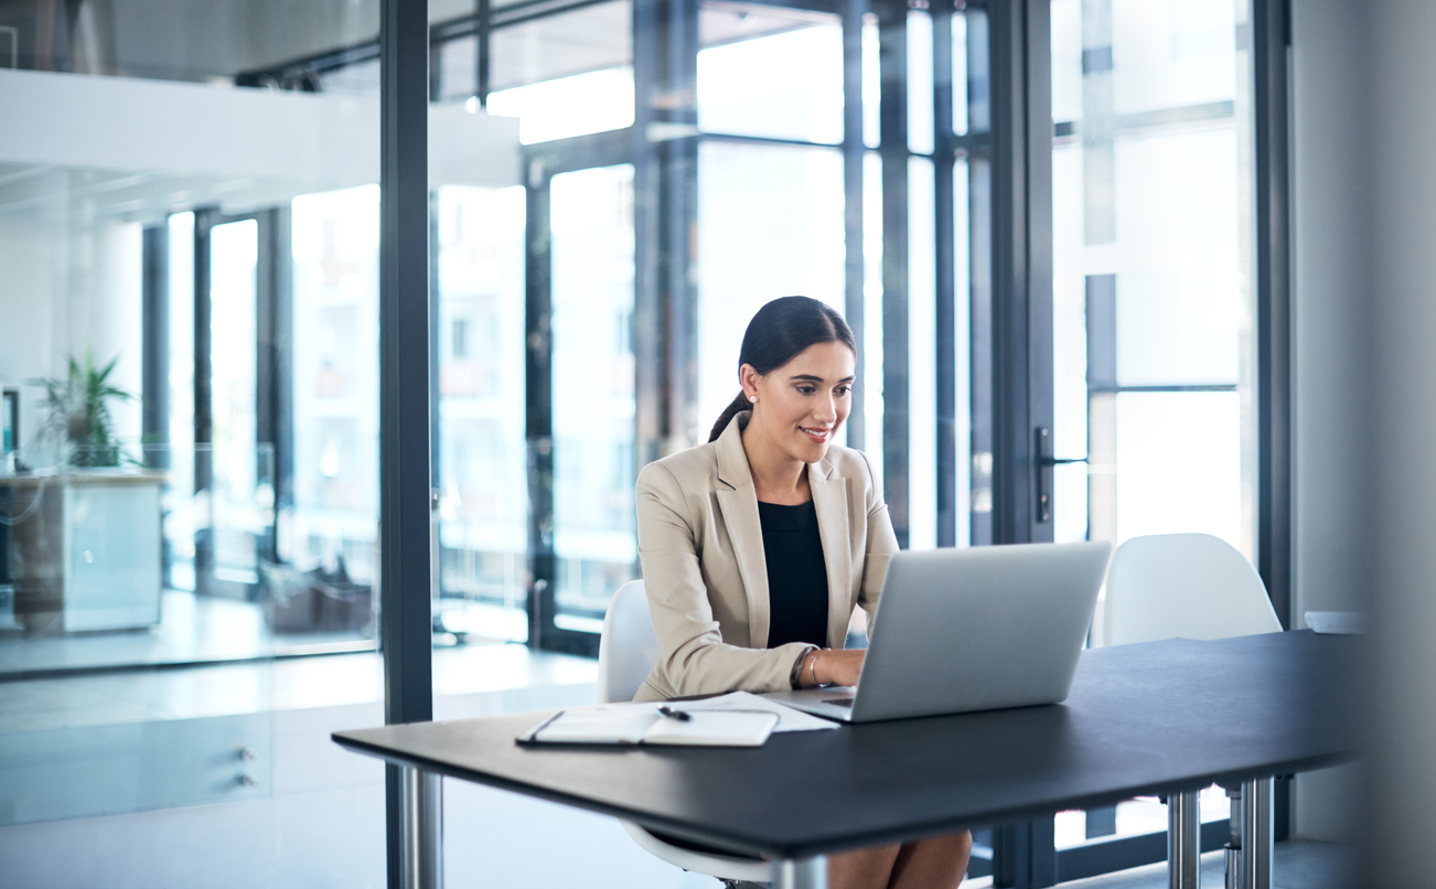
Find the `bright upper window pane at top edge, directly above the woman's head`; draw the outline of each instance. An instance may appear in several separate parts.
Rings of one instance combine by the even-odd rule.
[[[699,16],[699,129],[841,142],[837,16],[727,3],[705,4]]]

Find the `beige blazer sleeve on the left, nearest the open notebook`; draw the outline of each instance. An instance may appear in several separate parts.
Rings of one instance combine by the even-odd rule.
[[[669,686],[659,691],[686,697],[791,688],[793,665],[806,645],[752,649],[722,641],[704,583],[701,540],[686,506],[685,491],[666,467],[643,467],[638,477],[638,551],[658,635],[655,672]]]

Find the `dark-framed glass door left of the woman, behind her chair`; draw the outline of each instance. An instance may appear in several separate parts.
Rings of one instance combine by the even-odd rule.
[[[589,655],[638,574],[633,165],[595,159],[528,164],[524,316],[528,642]]]

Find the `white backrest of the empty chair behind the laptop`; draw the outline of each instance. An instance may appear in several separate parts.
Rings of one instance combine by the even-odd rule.
[[[1153,534],[1119,546],[1103,613],[1106,645],[1281,632],[1256,569],[1211,534]]]

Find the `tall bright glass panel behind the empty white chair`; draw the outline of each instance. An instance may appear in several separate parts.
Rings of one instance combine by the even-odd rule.
[[[1057,540],[1202,531],[1255,562],[1248,4],[1051,11],[1054,437],[1087,457],[1057,467]],[[1058,846],[1165,827],[1139,799],[1060,814]]]

